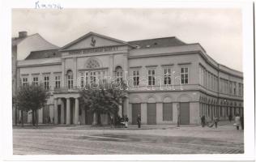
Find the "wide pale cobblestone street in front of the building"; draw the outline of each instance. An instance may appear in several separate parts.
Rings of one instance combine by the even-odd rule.
[[[136,126],[125,129],[91,126],[14,127],[14,155],[92,154],[237,154],[244,152],[243,130],[232,124]]]

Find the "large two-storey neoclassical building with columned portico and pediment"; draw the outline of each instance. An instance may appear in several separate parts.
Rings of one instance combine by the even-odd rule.
[[[177,37],[127,42],[89,32],[62,48],[32,51],[16,68],[18,87],[43,83],[50,92],[39,123],[49,117],[55,124],[96,122],[79,105],[79,88],[108,82],[105,76],[129,85],[118,113],[131,124],[138,114],[143,124],[175,124],[180,114],[181,125],[194,125],[202,115],[226,120],[243,113],[242,72],[215,62],[198,43]],[[108,116],[102,121],[107,124]]]

